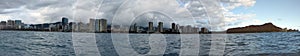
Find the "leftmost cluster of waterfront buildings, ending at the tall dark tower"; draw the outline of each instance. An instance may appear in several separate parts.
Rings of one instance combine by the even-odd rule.
[[[72,24],[68,18],[63,17],[60,22],[43,24],[25,24],[22,20],[7,20],[0,22],[1,30],[24,30],[24,31],[61,31],[68,32],[72,29]]]

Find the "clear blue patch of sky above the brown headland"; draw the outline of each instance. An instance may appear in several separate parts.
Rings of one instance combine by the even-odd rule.
[[[300,0],[256,0],[253,7],[232,10],[237,14],[256,14],[254,19],[263,24],[272,22],[282,28],[300,29]]]

